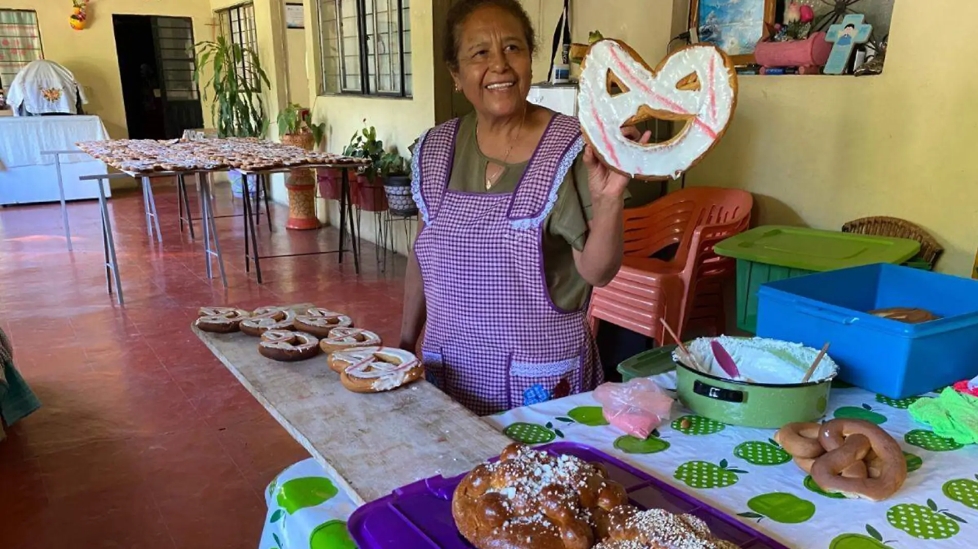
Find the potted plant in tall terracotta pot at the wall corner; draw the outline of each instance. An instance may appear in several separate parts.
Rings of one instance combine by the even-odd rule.
[[[279,113],[279,137],[282,143],[293,147],[312,150],[319,148],[326,133],[326,124],[313,124],[308,108],[290,103]],[[286,229],[319,229],[316,217],[316,178],[312,170],[297,168],[289,170],[286,181],[289,190],[289,221]]]

